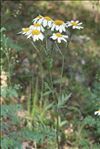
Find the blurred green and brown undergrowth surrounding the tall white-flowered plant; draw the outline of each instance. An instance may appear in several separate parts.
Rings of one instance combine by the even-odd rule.
[[[1,6],[1,148],[56,149],[59,139],[60,149],[99,149],[100,117],[94,115],[100,108],[99,1],[9,0]],[[17,34],[39,14],[83,22],[69,48],[60,47],[66,55],[62,80],[61,56],[52,51],[52,58],[42,59],[41,73],[36,50]],[[53,90],[59,84],[57,108]]]

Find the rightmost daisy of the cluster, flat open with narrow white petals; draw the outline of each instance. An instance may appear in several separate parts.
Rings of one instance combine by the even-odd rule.
[[[76,21],[71,20],[66,23],[66,27],[72,27],[72,29],[83,29],[81,25],[82,25],[82,22],[79,22],[78,20]]]

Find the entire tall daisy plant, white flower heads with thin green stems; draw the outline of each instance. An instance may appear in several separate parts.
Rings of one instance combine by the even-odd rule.
[[[70,39],[69,35],[67,34],[68,33],[67,31],[68,31],[68,29],[70,31],[70,28],[71,28],[71,30],[83,29],[82,22],[80,23],[79,21],[75,21],[75,20],[71,20],[71,21],[63,21],[63,20],[59,20],[59,19],[53,20],[49,16],[39,15],[33,19],[33,24],[31,24],[30,26],[28,26],[26,28],[22,28],[22,31],[20,32],[20,34],[23,34],[24,36],[27,37],[27,39],[31,40],[32,45],[34,46],[34,48],[37,52],[37,55],[39,55],[38,61],[40,64],[40,66],[39,66],[40,70],[42,71],[41,75],[43,74],[42,60],[46,60],[46,58],[48,58],[48,57],[49,57],[49,59],[48,59],[49,61],[53,60],[52,55],[48,52],[49,51],[48,50],[48,48],[49,48],[48,41],[52,41],[53,46],[55,45],[55,48],[60,53],[61,58],[62,58],[62,68],[61,68],[61,72],[60,72],[60,79],[62,80],[63,73],[64,73],[65,56],[64,56],[59,44],[67,43],[67,48],[68,48],[68,45],[69,45],[69,42],[71,39]],[[40,50],[39,44],[36,44],[37,41],[42,41],[42,43],[43,43],[43,44],[41,44],[43,47],[42,52]],[[43,41],[45,41],[45,42],[43,42]],[[44,43],[46,45],[44,45]],[[42,57],[43,52],[45,55],[44,57]],[[50,63],[51,63],[51,61],[50,61]],[[56,103],[55,126],[56,126],[56,134],[57,134],[57,144],[58,144],[58,149],[59,149],[59,146],[60,146],[59,134],[60,134],[60,130],[61,130],[60,124],[63,123],[63,122],[59,122],[59,117],[60,117],[59,110],[61,108],[61,107],[59,107],[59,98],[61,99],[61,95],[63,94],[62,89],[61,89],[62,82],[60,81],[59,92],[58,92],[53,86],[53,79],[52,79],[51,71],[52,71],[52,69],[49,70],[49,68],[48,68],[48,73],[49,73],[50,83],[51,83],[50,84],[51,86],[49,88],[52,91],[52,95],[53,95],[52,97]],[[44,80],[42,77],[42,88],[43,88],[43,85],[45,84],[45,82],[43,82],[43,81]],[[67,101],[70,98],[70,95],[68,95],[68,97],[64,98],[64,100],[62,100],[60,102],[64,101],[64,103],[65,103],[65,101]],[[61,105],[62,105],[62,103],[61,103]]]

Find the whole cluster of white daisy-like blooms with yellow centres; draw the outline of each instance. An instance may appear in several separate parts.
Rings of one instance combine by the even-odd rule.
[[[42,40],[45,38],[44,32],[49,29],[52,33],[50,39],[61,43],[61,41],[67,42],[68,35],[66,35],[66,29],[71,27],[72,29],[82,29],[82,23],[79,21],[68,21],[63,20],[53,20],[49,16],[37,16],[33,19],[33,24],[27,28],[22,28],[23,35],[27,38],[32,38],[33,41]]]

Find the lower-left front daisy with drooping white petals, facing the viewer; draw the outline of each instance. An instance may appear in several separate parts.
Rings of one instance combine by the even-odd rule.
[[[31,34],[27,38],[30,38],[30,37],[32,37],[34,42],[37,40],[44,39],[44,35],[39,30],[32,30]]]

